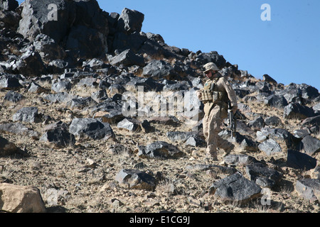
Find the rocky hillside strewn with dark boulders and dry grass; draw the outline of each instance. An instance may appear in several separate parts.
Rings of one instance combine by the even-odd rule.
[[[319,213],[320,95],[142,30],[95,0],[0,0],[0,212]],[[202,67],[233,84],[206,157]]]

